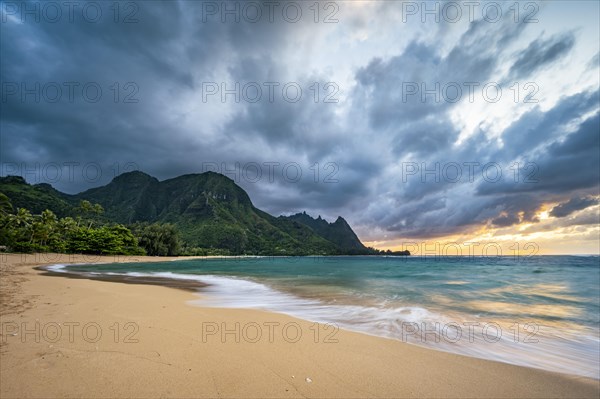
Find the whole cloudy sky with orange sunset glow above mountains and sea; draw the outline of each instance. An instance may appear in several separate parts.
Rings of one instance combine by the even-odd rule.
[[[597,1],[0,1],[1,174],[213,170],[418,254],[600,253]]]

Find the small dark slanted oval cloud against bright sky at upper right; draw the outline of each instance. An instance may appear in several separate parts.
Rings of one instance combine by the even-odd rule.
[[[567,33],[547,40],[541,38],[533,41],[517,55],[517,60],[510,67],[512,77],[531,76],[537,70],[565,56],[575,45],[575,36]]]

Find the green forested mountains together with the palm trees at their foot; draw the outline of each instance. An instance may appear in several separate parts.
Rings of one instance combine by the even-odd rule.
[[[233,180],[214,172],[165,181],[129,172],[76,195],[8,176],[0,177],[0,192],[6,194],[0,197],[2,215],[12,215],[13,205],[19,208],[13,215],[16,220],[8,218],[0,232],[0,245],[13,250],[127,253],[141,249],[157,256],[382,253],[365,247],[342,217],[334,223],[306,213],[273,217],[254,207]],[[51,212],[42,219],[46,210]],[[23,222],[27,217],[17,217],[19,212],[29,213],[32,221]]]

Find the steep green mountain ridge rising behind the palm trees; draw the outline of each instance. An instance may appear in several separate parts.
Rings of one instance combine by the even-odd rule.
[[[214,172],[164,181],[129,172],[76,195],[9,176],[0,178],[0,192],[15,208],[34,213],[50,209],[59,216],[74,215],[79,202],[88,200],[102,205],[106,221],[173,223],[189,247],[258,255],[371,253],[343,218],[327,223],[305,213],[273,217],[256,208],[233,180]]]

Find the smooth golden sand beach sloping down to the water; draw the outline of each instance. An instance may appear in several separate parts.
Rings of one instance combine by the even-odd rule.
[[[468,358],[282,314],[191,306],[189,290],[69,279],[0,254],[0,396],[589,397],[597,380]]]

